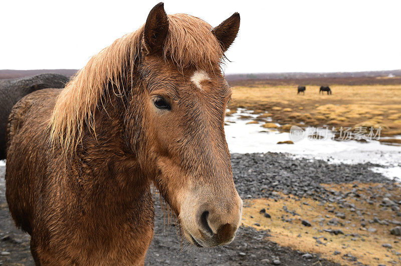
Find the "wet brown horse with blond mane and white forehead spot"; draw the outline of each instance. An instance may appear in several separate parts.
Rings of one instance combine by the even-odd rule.
[[[36,264],[143,264],[154,184],[194,245],[231,242],[242,215],[220,68],[240,15],[212,28],[159,3],[63,90],[13,108],[7,200]]]

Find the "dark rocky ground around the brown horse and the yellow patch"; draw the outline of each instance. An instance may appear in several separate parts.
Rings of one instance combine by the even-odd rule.
[[[373,215],[367,217],[364,214],[366,223],[379,220],[382,223],[390,224],[388,226],[395,226],[396,224],[391,222],[401,219],[399,217],[401,215],[399,212],[399,204],[401,203],[399,200],[401,198],[399,198],[399,194],[395,194],[399,191],[397,184],[393,184],[381,174],[369,170],[369,167],[375,166],[369,163],[329,164],[327,161],[321,160],[293,159],[281,153],[252,153],[232,154],[232,165],[237,189],[244,199],[269,197],[274,200],[285,200],[285,196],[291,194],[310,198],[322,204],[333,203],[336,206],[352,208],[352,203],[348,201],[357,197],[381,204],[382,208],[392,211],[392,220],[380,219],[380,213],[378,213],[375,221]],[[8,213],[5,201],[4,171],[5,168],[1,167],[0,265],[32,265],[33,261],[29,252],[29,235],[15,228]],[[365,192],[370,194],[373,192],[369,190],[369,187],[350,185],[350,189],[339,191],[325,185],[327,183],[350,183],[353,181],[381,183],[387,193],[385,198],[388,200],[384,197],[365,197]],[[147,265],[336,265],[336,263],[322,258],[320,254],[310,254],[280,246],[272,241],[274,240],[272,237],[268,238],[270,236],[269,229],[258,228],[255,230],[248,226],[244,226],[236,239],[224,248],[201,250],[189,246],[185,241],[180,244],[175,223],[167,224],[167,217],[163,217],[158,199],[155,200],[155,204],[155,233],[146,255],[145,264]],[[341,215],[340,209],[335,210],[335,215],[337,212],[338,215]],[[360,214],[362,215],[362,213]],[[285,222],[283,220],[283,225]],[[395,249],[397,243],[392,244],[394,245],[393,249]],[[393,250],[393,252],[397,251],[401,250]],[[345,256],[341,264],[361,264],[357,257],[347,257],[346,254],[339,256]],[[393,262],[399,263],[400,261],[394,260]]]

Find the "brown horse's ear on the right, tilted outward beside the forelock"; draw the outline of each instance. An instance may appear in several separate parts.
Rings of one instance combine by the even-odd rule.
[[[237,37],[239,29],[240,13],[237,12],[212,29],[213,34],[215,34],[217,39],[220,41],[223,51],[227,51],[233,43],[235,37]]]

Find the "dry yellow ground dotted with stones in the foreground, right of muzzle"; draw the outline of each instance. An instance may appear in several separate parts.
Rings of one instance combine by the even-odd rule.
[[[334,190],[352,190],[353,184],[330,184],[325,185],[328,189]],[[360,184],[363,186],[376,186],[378,192],[381,189],[381,184]],[[401,193],[401,189],[399,189]],[[283,195],[284,196],[284,195]],[[274,199],[253,199],[248,202],[249,207],[244,209],[244,219],[247,225],[253,226],[259,230],[270,229],[271,236],[270,240],[273,240],[283,246],[288,246],[304,252],[320,253],[322,257],[327,258],[331,261],[338,262],[340,264],[352,265],[353,262],[347,260],[347,257],[343,257],[344,254],[352,254],[357,257],[358,261],[367,265],[377,265],[379,263],[387,264],[390,261],[400,262],[395,251],[401,252],[400,237],[391,235],[389,230],[394,225],[380,225],[378,223],[369,224],[377,229],[376,232],[372,233],[366,229],[362,229],[361,221],[355,212],[349,209],[340,209],[340,211],[346,214],[345,219],[340,219],[340,222],[344,226],[333,226],[327,225],[327,221],[331,218],[335,218],[334,213],[328,212],[329,204],[319,205],[318,201],[310,198],[297,198],[296,196],[290,195],[289,197],[284,196],[285,199],[279,199],[277,202]],[[306,202],[308,205],[305,205]],[[354,203],[356,209],[362,209],[363,211],[372,213],[380,213],[380,219],[388,218],[394,219],[391,215],[391,210],[382,211],[379,205],[370,205],[365,201],[356,201],[350,199],[349,203]],[[288,210],[294,210],[300,214],[293,216],[292,214],[283,210],[283,206],[286,206]],[[331,206],[332,205],[332,206]],[[332,203],[329,208],[336,207],[338,205]],[[264,213],[260,213],[260,209],[266,208],[266,212],[271,215],[270,218],[266,218]],[[362,211],[361,210],[361,211]],[[326,216],[327,215],[327,216]],[[368,219],[367,214],[364,215],[365,219]],[[284,219],[292,218],[291,222],[282,221]],[[325,219],[325,221],[319,224],[319,219]],[[369,217],[370,218],[370,217]],[[312,223],[311,227],[302,225],[301,220],[306,219]],[[346,221],[350,221],[346,223]],[[255,225],[258,223],[259,225]],[[355,224],[355,226],[353,226]],[[323,229],[340,229],[344,234],[335,235]],[[359,236],[353,236],[359,235]],[[318,244],[317,237],[322,244]],[[392,249],[381,246],[382,243],[390,243]],[[334,251],[340,251],[341,254],[334,255]]]

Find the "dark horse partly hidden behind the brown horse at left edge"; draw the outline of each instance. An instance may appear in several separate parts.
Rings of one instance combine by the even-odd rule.
[[[6,124],[14,104],[38,89],[63,88],[69,79],[68,76],[60,74],[0,79],[0,159],[6,158]]]

